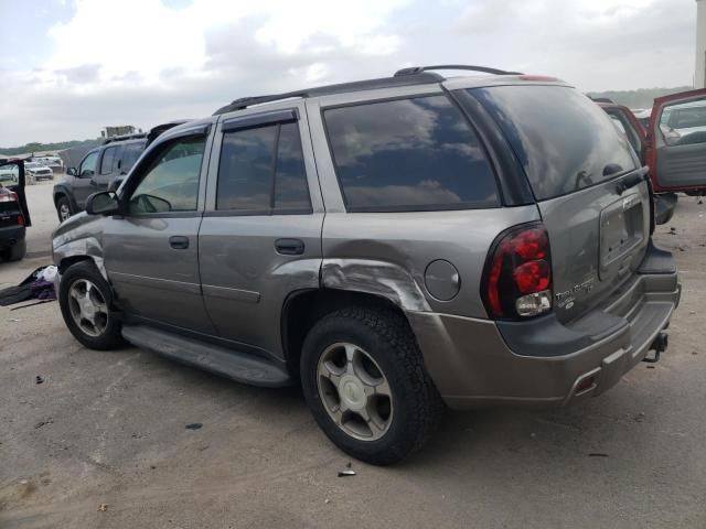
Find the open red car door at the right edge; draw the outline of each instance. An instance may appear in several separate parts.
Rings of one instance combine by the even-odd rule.
[[[706,192],[706,89],[654,100],[646,161],[655,192]]]

